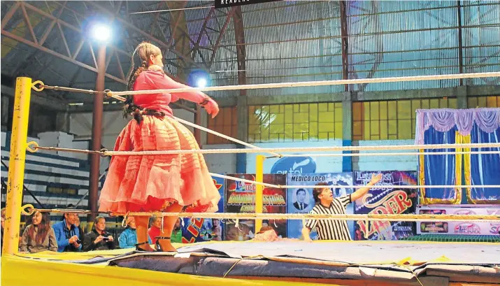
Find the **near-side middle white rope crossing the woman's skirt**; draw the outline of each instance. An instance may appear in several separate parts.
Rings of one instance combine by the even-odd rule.
[[[429,150],[457,148],[500,148],[500,143],[464,143],[464,144],[423,144],[423,145],[380,145],[380,146],[330,146],[301,148],[259,148],[259,149],[201,149],[201,150],[158,150],[158,151],[106,151],[107,156],[130,155],[171,155],[171,154],[230,154],[230,153],[265,153],[265,152],[334,152],[334,151],[373,151],[373,150]]]

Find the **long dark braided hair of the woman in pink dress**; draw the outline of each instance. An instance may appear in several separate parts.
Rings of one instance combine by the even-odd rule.
[[[136,83],[138,76],[143,71],[148,70],[150,56],[151,55],[157,56],[161,52],[162,51],[159,50],[157,46],[152,45],[151,43],[142,42],[137,45],[136,50],[134,50],[134,53],[132,54],[132,59],[131,59],[132,69],[131,73],[129,74],[129,83],[127,84],[128,90],[134,90],[134,85]],[[136,63],[138,62],[140,62],[141,64],[135,67]],[[134,95],[127,96],[127,101],[125,101],[125,105],[123,106],[124,117],[132,115],[138,123],[141,123],[143,120],[142,115],[145,114],[144,111],[146,111],[146,113],[148,114],[150,113],[151,115],[162,115],[159,114],[158,112],[155,112],[154,110],[143,110],[143,108],[141,108],[140,106],[136,106],[134,104]]]

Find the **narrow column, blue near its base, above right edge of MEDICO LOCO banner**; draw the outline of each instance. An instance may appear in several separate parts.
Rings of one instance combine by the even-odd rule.
[[[343,92],[342,99],[342,145],[352,145],[352,92]],[[344,151],[343,153],[349,153]],[[342,171],[352,171],[352,157],[342,157]]]

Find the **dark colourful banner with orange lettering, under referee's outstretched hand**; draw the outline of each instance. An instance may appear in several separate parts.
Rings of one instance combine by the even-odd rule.
[[[405,185],[417,185],[416,172],[406,171],[362,171],[354,172],[355,185],[366,185],[373,175],[383,173],[383,179],[364,196],[355,201],[356,214],[400,214],[415,213],[417,190],[405,189]],[[380,188],[380,185],[401,185],[401,188]],[[366,222],[355,224],[357,241],[362,240],[399,240],[415,234],[415,222]],[[366,238],[367,236],[367,238]]]

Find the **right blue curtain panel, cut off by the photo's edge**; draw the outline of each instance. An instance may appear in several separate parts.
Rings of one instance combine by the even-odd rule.
[[[486,133],[473,125],[471,143],[499,143],[500,128],[493,133]],[[500,151],[500,148],[483,148],[483,151]],[[479,151],[471,148],[471,151]],[[500,154],[471,154],[471,185],[500,185]],[[500,201],[499,188],[473,187],[469,194],[472,202],[492,203]]]

